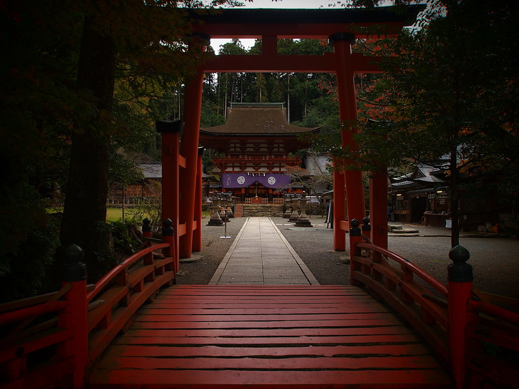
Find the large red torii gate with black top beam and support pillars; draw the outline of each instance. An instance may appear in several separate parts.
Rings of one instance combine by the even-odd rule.
[[[354,73],[380,73],[381,58],[352,53],[356,38],[398,34],[403,26],[414,23],[425,5],[379,7],[375,9],[222,9],[210,15],[193,16],[192,45],[204,50],[210,38],[261,38],[261,55],[217,55],[197,70],[185,87],[184,133],[180,154],[178,132],[163,131],[162,216],[172,218],[176,237],[175,257],[189,258],[201,251],[201,208],[195,201],[201,187],[198,138],[202,100],[203,73],[280,72],[335,73],[340,120],[343,125],[342,147],[355,151],[353,136],[357,129],[357,102]],[[334,52],[325,55],[280,55],[277,40],[329,39]],[[192,46],[193,47],[193,46]],[[337,161],[335,161],[337,162]],[[354,161],[346,161],[355,163]],[[179,165],[183,169],[179,171]],[[346,200],[345,201],[345,193]],[[179,208],[179,203],[182,206]],[[378,172],[370,183],[371,240],[387,248],[387,174]],[[334,172],[334,249],[345,251],[346,204],[348,218],[365,216],[362,172]],[[351,250],[353,253],[353,250]]]

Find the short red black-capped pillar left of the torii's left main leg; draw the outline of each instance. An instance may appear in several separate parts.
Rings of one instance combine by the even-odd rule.
[[[162,133],[162,223],[171,219],[174,234],[172,257],[179,260],[179,134],[180,120],[161,120],[155,123]]]

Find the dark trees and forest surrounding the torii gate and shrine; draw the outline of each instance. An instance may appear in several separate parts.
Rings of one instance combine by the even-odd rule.
[[[395,3],[401,12],[416,2]],[[454,202],[499,195],[516,208],[519,3],[424,3],[416,29],[353,46],[389,58],[388,73],[355,75],[359,152],[337,147],[332,74],[206,74],[201,126],[222,124],[229,102],[285,102],[291,123],[321,127],[316,151],[354,158],[368,173],[387,164],[394,176],[447,156],[441,166]],[[139,178],[136,161],[160,159],[154,121],[182,118],[184,82],[200,61],[214,51],[259,54],[261,40],[250,49],[235,40],[187,51],[196,12],[183,7],[202,12],[234,0],[0,5],[0,296],[11,300],[53,290],[61,248],[72,242],[85,249],[89,282],[117,262],[111,240],[120,226],[105,222],[108,187]],[[327,51],[327,41],[278,41],[280,54]],[[457,182],[460,172],[485,185]],[[50,217],[47,204],[59,201],[63,215]]]

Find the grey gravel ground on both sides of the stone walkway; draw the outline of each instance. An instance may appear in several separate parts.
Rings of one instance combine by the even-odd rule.
[[[202,252],[195,253],[193,263],[181,263],[177,277],[179,284],[207,284],[227,253],[246,218],[235,218],[224,227],[202,227]],[[208,220],[208,219],[206,219]],[[285,239],[303,259],[321,285],[349,285],[349,252],[333,251],[333,230],[326,229],[323,218],[312,217],[315,228],[294,228],[288,220],[272,218]],[[416,228],[416,226],[414,226]],[[415,262],[422,269],[447,283],[447,265],[450,238],[437,237],[437,231],[448,234],[446,229],[433,230],[418,227],[424,236],[388,238],[389,249]],[[511,239],[460,238],[471,258],[474,269],[474,285],[479,289],[504,296],[519,298],[519,241]],[[346,263],[345,263],[346,262]]]

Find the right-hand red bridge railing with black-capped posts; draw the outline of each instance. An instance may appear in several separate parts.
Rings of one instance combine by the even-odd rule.
[[[362,230],[369,231],[369,220],[363,221]],[[516,307],[519,300],[474,289],[465,247],[449,252],[447,287],[400,255],[367,243],[358,220],[351,226],[351,283],[398,310],[450,365],[457,388],[517,387],[519,315],[490,300]]]

